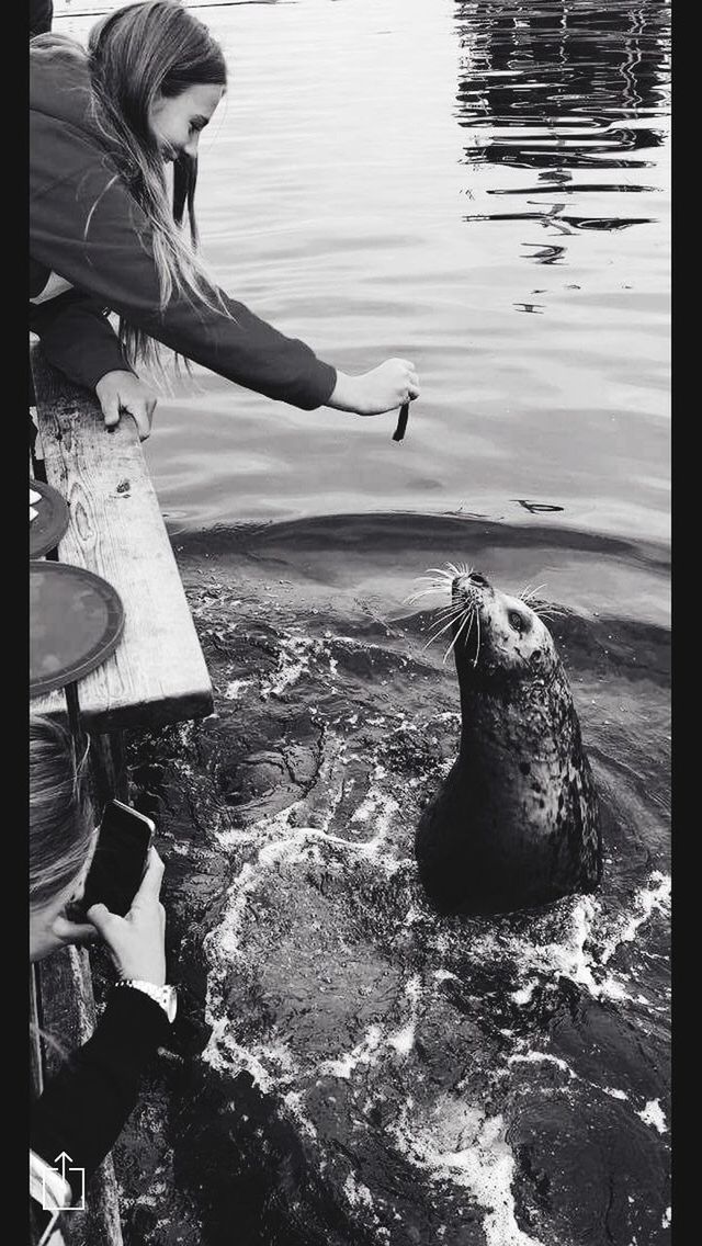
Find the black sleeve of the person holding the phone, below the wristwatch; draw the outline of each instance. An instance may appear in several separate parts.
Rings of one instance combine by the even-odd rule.
[[[92,1037],[31,1105],[31,1149],[49,1164],[66,1151],[87,1180],[135,1108],[141,1074],[168,1032],[153,999],[126,987],[113,991]],[[80,1175],[74,1180],[77,1195]]]

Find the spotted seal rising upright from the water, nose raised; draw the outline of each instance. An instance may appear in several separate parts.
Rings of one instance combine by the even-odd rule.
[[[458,759],[416,827],[424,888],[439,910],[465,913],[594,891],[599,801],[551,633],[479,572],[449,578],[463,726]]]

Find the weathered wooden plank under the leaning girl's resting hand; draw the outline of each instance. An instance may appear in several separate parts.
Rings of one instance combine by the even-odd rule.
[[[156,726],[212,709],[212,685],[136,425],[107,432],[97,401],[35,345],[31,366],[46,478],[66,498],[59,561],[102,576],[125,607],[117,650],[81,680],[89,730]]]

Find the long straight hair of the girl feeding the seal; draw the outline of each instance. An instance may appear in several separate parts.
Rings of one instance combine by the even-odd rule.
[[[151,227],[161,310],[176,290],[226,314],[217,285],[196,254],[197,162],[188,156],[176,161],[171,206],[163,157],[148,126],[158,93],[172,97],[203,83],[226,87],[219,45],[178,0],[146,0],[99,21],[90,32],[87,55],[96,121],[120,177]],[[180,229],[186,208],[190,245]],[[121,318],[120,339],[132,361],[160,368],[158,346],[143,329]]]

